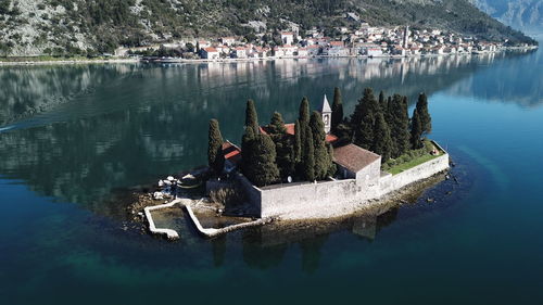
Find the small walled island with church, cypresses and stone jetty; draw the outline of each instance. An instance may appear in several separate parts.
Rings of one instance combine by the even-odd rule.
[[[177,203],[206,237],[269,221],[345,217],[450,167],[445,150],[427,139],[431,117],[425,93],[409,118],[406,97],[386,97],[381,91],[376,98],[367,88],[345,117],[336,88],[331,106],[325,96],[319,109],[311,112],[303,98],[294,123],[286,124],[276,112],[267,125],[258,124],[255,103],[249,100],[243,128],[237,145],[223,139],[216,119],[210,120],[209,166],[199,170],[199,178],[186,175],[182,180],[168,177],[159,182],[155,199],[167,193],[174,201],[146,207],[151,231],[176,237],[154,227],[151,211]],[[205,185],[206,196],[198,204],[177,196],[179,187],[191,183]],[[205,229],[192,211],[202,202],[215,208],[215,217],[249,220]]]

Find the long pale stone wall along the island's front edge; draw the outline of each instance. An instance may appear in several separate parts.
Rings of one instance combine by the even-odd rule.
[[[261,217],[283,219],[329,218],[351,214],[390,192],[429,178],[449,168],[443,154],[397,175],[383,175],[378,181],[364,183],[356,179],[272,186],[258,189],[242,175],[238,181]],[[368,170],[371,170],[370,168]],[[362,177],[365,179],[365,177]]]

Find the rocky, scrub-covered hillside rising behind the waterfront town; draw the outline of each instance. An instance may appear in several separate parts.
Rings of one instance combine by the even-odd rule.
[[[118,46],[187,37],[245,36],[257,31],[356,27],[344,13],[371,25],[412,25],[530,42],[468,0],[0,0],[0,56],[93,55]]]

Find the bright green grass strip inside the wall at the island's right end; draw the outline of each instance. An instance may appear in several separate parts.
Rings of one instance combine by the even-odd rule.
[[[439,152],[439,154],[435,155],[431,154],[431,151],[434,149]],[[411,150],[395,160],[391,158],[387,161],[382,165],[382,169],[392,175],[396,175],[404,170],[413,168],[417,165],[420,165],[425,162],[428,162],[432,158],[435,158],[440,155],[442,155],[442,152],[437,148],[434,148],[431,141],[425,140],[422,148],[418,150]]]

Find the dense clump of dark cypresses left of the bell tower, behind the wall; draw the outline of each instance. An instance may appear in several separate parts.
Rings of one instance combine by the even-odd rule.
[[[318,112],[310,117],[308,112],[310,103],[304,98],[300,103],[300,118],[294,124],[294,135],[287,132],[282,116],[277,112],[264,127],[266,135],[257,135],[254,102],[250,100],[247,103],[245,134],[241,139],[241,169],[249,180],[262,187],[286,181],[288,177],[307,181],[323,180],[336,173],[333,150],[326,142],[323,117]],[[265,136],[272,143],[261,136]]]

